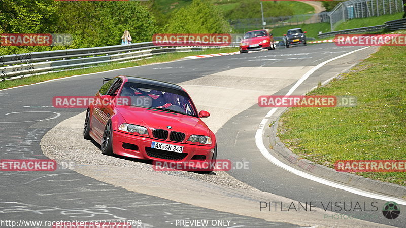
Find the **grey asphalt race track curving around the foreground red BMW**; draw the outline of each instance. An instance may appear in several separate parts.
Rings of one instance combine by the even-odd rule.
[[[232,56],[179,60],[2,90],[0,91],[2,159],[47,159],[43,154],[43,149],[49,147],[50,150],[66,151],[65,156],[60,152],[55,155],[59,156],[60,160],[83,162],[83,159],[80,158],[82,154],[88,158],[83,153],[84,150],[91,148],[97,151],[98,148],[83,139],[81,139],[83,142],[75,141],[79,140],[75,138],[78,135],[76,130],[79,129],[79,133],[81,133],[81,129],[78,127],[75,130],[75,126],[70,125],[82,126],[83,122],[69,121],[78,120],[77,118],[85,110],[54,108],[52,98],[54,96],[93,96],[102,85],[103,77],[136,75],[183,86],[199,110],[204,109],[211,113],[211,117],[204,121],[214,132],[217,132],[218,159],[247,162],[249,168],[231,169],[227,174],[217,174],[217,178],[224,178],[224,181],[228,178],[233,183],[241,182],[238,190],[241,192],[232,192],[230,187],[227,188],[227,184],[219,184],[219,188],[216,188],[216,181],[200,181],[200,179],[215,178],[210,177],[214,175],[195,173],[151,174],[151,179],[144,176],[145,186],[125,187],[115,182],[115,179],[126,179],[127,176],[123,173],[128,172],[128,169],[122,169],[123,173],[121,173],[118,171],[123,167],[99,164],[99,160],[91,160],[91,158],[88,166],[78,167],[78,170],[1,172],[1,217],[8,220],[24,219],[26,221],[140,219],[143,227],[185,227],[176,222],[187,219],[225,221],[226,224],[217,223],[217,225],[209,225],[209,227],[297,227],[312,224],[312,226],[336,226],[346,223],[348,226],[365,227],[404,226],[406,218],[404,213],[394,220],[386,219],[382,215],[382,206],[386,201],[355,195],[287,172],[266,160],[255,144],[255,132],[262,118],[270,109],[261,108],[256,104],[259,95],[284,95],[313,66],[357,49],[360,48],[319,44]],[[336,74],[345,72],[375,51],[375,48],[367,48],[326,64],[304,81],[293,95],[301,95],[310,91],[319,82],[324,82]],[[69,129],[65,129],[63,137],[50,133],[47,137],[54,137],[52,143],[48,141],[48,144],[42,142],[44,144],[40,145],[44,135],[51,129],[54,130],[53,128],[63,121],[67,122],[64,122],[65,125],[62,127],[65,126],[66,129]],[[63,132],[63,128],[55,129]],[[75,136],[70,138],[71,134]],[[87,147],[80,150],[82,143],[87,143]],[[69,148],[75,150],[76,154],[68,152]],[[100,155],[97,156],[101,156],[101,152],[99,150],[98,152]],[[144,168],[151,166],[149,163],[140,161],[101,157],[105,160],[123,161],[123,163],[118,161],[119,164],[141,163]],[[110,178],[101,177],[101,174],[98,177],[98,167],[107,168]],[[147,171],[140,169],[139,173],[134,172],[132,175],[153,173]],[[131,175],[131,173],[125,174]],[[165,176],[168,180],[177,181],[173,184],[179,185],[179,188],[182,184],[185,187],[191,186],[189,195],[165,192],[163,189],[171,184],[170,181],[162,179]],[[130,178],[127,181],[129,180]],[[141,180],[137,179],[137,181]],[[148,181],[151,181],[151,185],[160,184],[160,188],[154,188],[159,191],[153,192],[152,188],[147,188]],[[201,189],[205,187],[211,189],[211,194],[215,195],[218,191],[221,196],[227,195],[228,203],[234,199],[235,210],[234,206],[227,206],[229,204],[221,207],[221,197],[217,200],[219,205],[211,207],[204,204],[205,199],[199,199],[200,189],[193,189],[194,184],[200,186]],[[246,197],[248,195],[245,194],[248,194],[247,191],[251,191],[251,188],[259,190],[256,193],[258,198],[255,194],[251,194],[250,198]],[[196,192],[196,195],[190,194],[193,191]],[[207,194],[207,196],[211,195]],[[259,202],[266,201],[263,199],[266,199],[267,196],[280,197],[284,202],[317,202],[318,208],[322,208],[320,202],[340,202],[340,205],[348,205],[352,202],[352,208],[356,202],[359,202],[362,211],[324,213],[324,210],[319,209],[320,213],[300,212],[298,214],[291,213],[291,211],[281,212],[279,209],[279,211],[269,211],[269,208],[267,208],[268,211],[259,211]],[[238,211],[240,200],[251,204],[256,211]],[[210,200],[207,199],[207,201]],[[269,199],[269,201],[273,200]],[[378,207],[378,211],[364,210],[364,204],[367,205],[366,209],[370,209],[368,205],[371,205],[372,202],[376,202],[374,205]],[[284,207],[289,208],[289,205],[284,205]],[[339,213],[358,216],[363,221],[323,218],[323,214]],[[319,220],[312,223],[311,220],[316,217]],[[230,223],[227,223],[227,220],[230,220]],[[301,220],[303,222],[300,222]]]

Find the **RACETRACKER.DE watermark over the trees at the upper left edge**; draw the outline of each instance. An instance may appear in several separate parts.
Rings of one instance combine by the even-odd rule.
[[[60,46],[71,45],[71,34],[8,33],[0,34],[3,46]]]

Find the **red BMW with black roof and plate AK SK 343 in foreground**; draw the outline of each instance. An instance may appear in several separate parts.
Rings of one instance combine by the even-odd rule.
[[[129,76],[104,81],[87,109],[83,130],[103,154],[188,166],[216,161],[216,136],[201,120],[210,114],[198,113],[182,87]]]

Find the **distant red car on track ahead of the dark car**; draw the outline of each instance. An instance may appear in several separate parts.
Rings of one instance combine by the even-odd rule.
[[[244,34],[240,43],[240,53],[275,49],[274,37],[266,30],[249,31]]]

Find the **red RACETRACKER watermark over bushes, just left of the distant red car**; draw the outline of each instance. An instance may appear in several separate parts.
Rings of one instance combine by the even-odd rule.
[[[157,46],[227,46],[231,44],[230,34],[154,34],[152,42]]]

